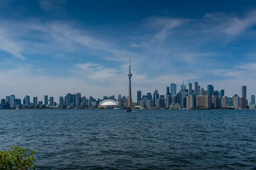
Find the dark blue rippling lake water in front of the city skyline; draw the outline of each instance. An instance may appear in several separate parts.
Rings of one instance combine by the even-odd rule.
[[[48,169],[256,169],[256,111],[0,110],[0,150]]]

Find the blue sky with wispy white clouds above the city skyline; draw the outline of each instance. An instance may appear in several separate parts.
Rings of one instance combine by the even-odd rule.
[[[183,80],[250,101],[255,30],[251,0],[1,0],[0,98],[128,96],[131,56],[135,102]]]

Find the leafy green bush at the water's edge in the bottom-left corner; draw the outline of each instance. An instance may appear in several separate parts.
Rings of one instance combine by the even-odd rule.
[[[35,150],[28,153],[26,148],[11,147],[11,150],[0,151],[0,170],[35,170]]]

